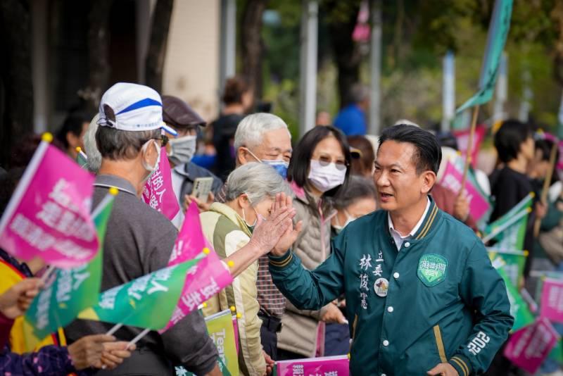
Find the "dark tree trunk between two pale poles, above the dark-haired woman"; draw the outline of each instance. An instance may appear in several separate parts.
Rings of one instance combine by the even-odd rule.
[[[331,1],[324,1],[322,5],[326,6],[327,12],[332,7]],[[360,80],[362,55],[360,54],[360,47],[352,40],[358,11],[359,7],[350,13],[348,20],[343,22],[333,20],[328,25],[336,68],[338,68],[339,73],[340,108],[348,104],[350,88]]]

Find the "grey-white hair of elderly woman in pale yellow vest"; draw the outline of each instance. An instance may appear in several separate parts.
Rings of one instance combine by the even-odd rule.
[[[247,194],[252,205],[263,199],[274,198],[278,193],[292,196],[291,187],[270,165],[251,162],[236,168],[227,177],[226,201],[233,201],[241,194]]]

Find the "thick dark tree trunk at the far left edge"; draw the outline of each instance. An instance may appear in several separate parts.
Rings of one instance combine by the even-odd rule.
[[[30,4],[0,1],[0,165],[24,134],[33,132]]]

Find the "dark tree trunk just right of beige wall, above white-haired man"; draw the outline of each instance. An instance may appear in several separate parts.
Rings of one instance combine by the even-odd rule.
[[[262,96],[262,14],[267,0],[248,0],[241,26],[243,75],[253,90],[253,102]]]

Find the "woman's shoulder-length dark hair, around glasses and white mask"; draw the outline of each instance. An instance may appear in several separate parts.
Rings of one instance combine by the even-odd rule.
[[[291,161],[289,161],[289,168],[287,170],[287,180],[290,182],[296,182],[299,187],[307,186],[312,153],[315,151],[317,144],[329,136],[336,137],[336,140],[339,142],[346,160],[347,168],[344,183],[336,188],[324,192],[323,196],[336,196],[336,194],[339,194],[341,190],[346,190],[348,176],[350,175],[350,161],[352,159],[350,156],[350,146],[348,146],[348,140],[341,130],[331,126],[314,127],[312,130],[303,135],[296,148],[293,149]]]

